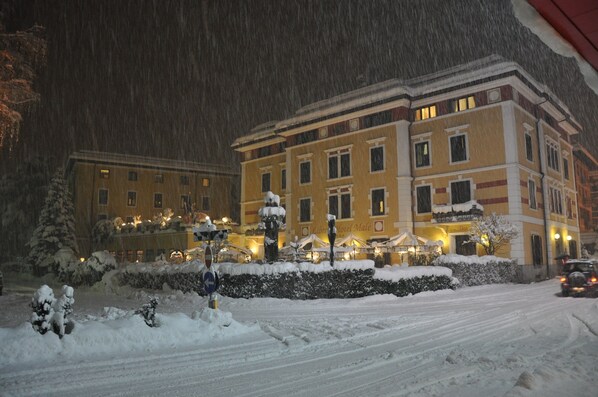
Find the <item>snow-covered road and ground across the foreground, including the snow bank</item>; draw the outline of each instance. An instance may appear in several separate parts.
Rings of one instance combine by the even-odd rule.
[[[76,289],[71,335],[27,323],[38,281],[5,275],[2,396],[597,396],[598,299],[556,280],[405,298],[220,301],[160,292],[162,326],[123,288]],[[55,292],[60,285],[51,285]],[[195,312],[195,314],[194,314]]]

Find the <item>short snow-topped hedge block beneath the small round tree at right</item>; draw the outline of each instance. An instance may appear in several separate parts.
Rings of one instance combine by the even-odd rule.
[[[434,265],[451,269],[461,286],[505,284],[517,280],[517,263],[492,255],[442,255],[434,260]]]

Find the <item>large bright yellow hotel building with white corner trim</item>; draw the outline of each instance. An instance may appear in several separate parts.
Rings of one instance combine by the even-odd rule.
[[[286,209],[281,242],[327,241],[333,213],[337,239],[411,231],[442,240],[444,253],[481,255],[462,243],[472,219],[496,212],[520,230],[498,255],[523,265],[522,278],[544,278],[556,256],[580,249],[571,144],[580,129],[546,86],[498,56],[389,80],[237,139],[241,225],[253,234],[271,190]]]

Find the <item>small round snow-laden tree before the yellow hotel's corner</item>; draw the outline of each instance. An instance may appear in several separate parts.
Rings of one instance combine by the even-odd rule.
[[[503,216],[492,213],[471,223],[469,240],[484,247],[486,255],[494,255],[519,235],[519,230]]]

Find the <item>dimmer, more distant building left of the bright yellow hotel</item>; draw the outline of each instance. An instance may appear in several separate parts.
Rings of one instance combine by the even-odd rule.
[[[80,151],[67,162],[73,192],[79,254],[87,257],[108,249],[119,261],[153,261],[199,245],[194,241],[192,214],[213,220],[238,219],[235,185],[238,172],[217,164]],[[142,228],[158,214],[172,211],[180,225],[167,230]],[[107,246],[93,243],[96,223],[109,219],[123,227]],[[124,230],[129,230],[124,232]]]

